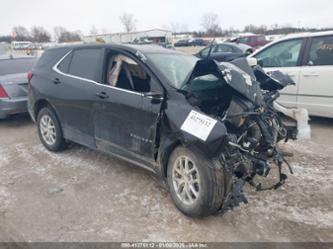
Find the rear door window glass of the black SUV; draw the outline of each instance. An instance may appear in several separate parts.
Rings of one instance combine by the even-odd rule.
[[[72,55],[68,73],[85,79],[95,80],[100,66],[101,49],[79,49]]]

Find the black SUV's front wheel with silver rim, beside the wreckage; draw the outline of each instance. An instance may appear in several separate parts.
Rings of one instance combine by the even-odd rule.
[[[208,216],[222,206],[223,169],[216,169],[201,153],[177,147],[169,158],[167,181],[176,207],[185,215]]]

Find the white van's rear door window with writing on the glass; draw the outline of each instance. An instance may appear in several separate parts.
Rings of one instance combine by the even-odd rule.
[[[312,39],[308,65],[333,65],[333,36],[316,37]]]

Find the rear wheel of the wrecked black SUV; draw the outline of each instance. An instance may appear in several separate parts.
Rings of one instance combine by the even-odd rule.
[[[37,127],[39,139],[46,149],[61,151],[65,148],[66,141],[60,123],[51,108],[44,107],[38,112]]]

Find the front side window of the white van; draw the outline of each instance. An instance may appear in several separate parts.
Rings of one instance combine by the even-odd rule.
[[[255,57],[263,67],[297,66],[303,39],[294,39],[274,44]]]

